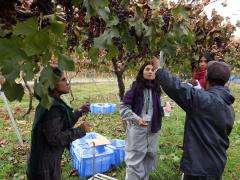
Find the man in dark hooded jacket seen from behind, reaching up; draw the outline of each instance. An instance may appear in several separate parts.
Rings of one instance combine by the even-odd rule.
[[[206,90],[182,83],[161,68],[158,59],[154,67],[162,89],[186,112],[181,159],[184,180],[220,180],[235,119],[234,97],[224,86],[230,77],[229,66],[208,63]]]

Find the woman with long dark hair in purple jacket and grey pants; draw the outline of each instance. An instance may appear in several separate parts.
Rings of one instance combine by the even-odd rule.
[[[126,122],[126,180],[147,180],[155,169],[163,110],[153,65],[145,63],[120,105]]]

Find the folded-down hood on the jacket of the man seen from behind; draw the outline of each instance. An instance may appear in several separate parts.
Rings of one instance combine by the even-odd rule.
[[[220,96],[228,105],[233,104],[235,101],[235,98],[230,94],[230,91],[227,87],[213,86],[208,91]]]

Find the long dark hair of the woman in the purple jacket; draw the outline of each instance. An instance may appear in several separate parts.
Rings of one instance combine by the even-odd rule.
[[[151,88],[153,90],[156,90],[158,93],[161,93],[160,84],[158,83],[156,78],[151,81],[144,79],[143,71],[147,65],[153,65],[153,63],[146,62],[141,66],[138,71],[136,80],[132,84],[132,88],[134,88],[137,93],[142,93],[143,89],[145,88]]]

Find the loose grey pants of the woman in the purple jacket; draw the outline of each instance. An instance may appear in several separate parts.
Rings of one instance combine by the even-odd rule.
[[[125,180],[148,180],[150,171],[155,169],[157,147],[158,133],[151,133],[151,123],[140,127],[127,121]]]

